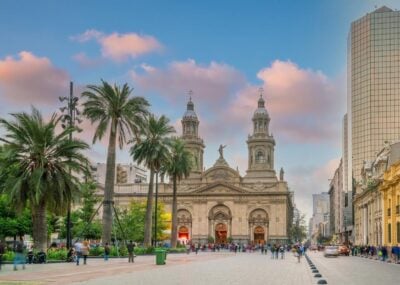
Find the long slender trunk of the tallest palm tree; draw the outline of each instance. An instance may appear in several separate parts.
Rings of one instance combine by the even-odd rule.
[[[114,205],[114,182],[115,182],[115,150],[117,139],[117,124],[113,120],[111,122],[110,138],[107,150],[106,164],[106,181],[104,186],[103,201],[103,233],[101,236],[103,244],[111,242],[111,231],[113,222],[113,205]]]

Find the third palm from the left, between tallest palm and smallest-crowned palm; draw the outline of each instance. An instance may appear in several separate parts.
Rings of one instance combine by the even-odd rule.
[[[153,211],[153,184],[154,174],[158,173],[162,164],[168,158],[169,135],[175,129],[169,124],[165,116],[157,118],[151,115],[140,140],[131,148],[130,153],[135,161],[143,163],[150,169],[149,191],[147,194],[146,219],[144,226],[144,244],[151,244],[152,211]]]

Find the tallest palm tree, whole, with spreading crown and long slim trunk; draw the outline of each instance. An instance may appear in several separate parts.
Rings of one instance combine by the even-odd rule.
[[[111,86],[101,81],[99,86],[89,85],[88,91],[82,93],[86,97],[83,103],[83,114],[92,124],[98,123],[93,143],[101,140],[109,129],[109,141],[106,162],[106,181],[104,187],[103,201],[103,243],[111,242],[112,210],[114,203],[114,182],[115,182],[115,155],[116,144],[120,149],[132,136],[138,138],[146,116],[148,115],[149,103],[142,97],[130,98],[132,89],[128,84],[122,87]]]

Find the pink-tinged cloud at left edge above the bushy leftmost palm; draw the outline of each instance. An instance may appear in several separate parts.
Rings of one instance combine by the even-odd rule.
[[[12,103],[52,105],[58,96],[68,94],[68,81],[67,72],[31,52],[0,60],[0,93]]]

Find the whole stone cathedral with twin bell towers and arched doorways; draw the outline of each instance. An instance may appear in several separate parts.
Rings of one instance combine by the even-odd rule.
[[[255,102],[256,103],[256,102]],[[247,138],[248,169],[241,176],[224,158],[203,167],[205,142],[199,135],[195,106],[190,99],[182,118],[182,139],[193,155],[190,176],[178,185],[178,240],[215,243],[286,243],[292,224],[293,195],[274,169],[275,140],[269,131],[270,117],[260,95],[252,117],[253,131]],[[115,202],[127,206],[143,200],[146,184],[117,184]],[[167,212],[172,208],[172,185],[159,183],[158,199]]]

